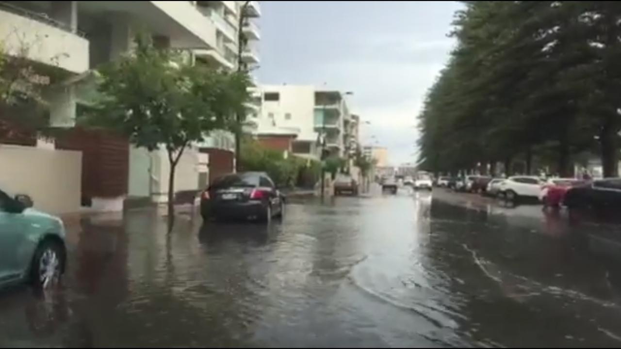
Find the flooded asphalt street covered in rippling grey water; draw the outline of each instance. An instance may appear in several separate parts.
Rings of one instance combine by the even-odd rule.
[[[0,294],[0,345],[621,345],[621,262],[588,233],[617,228],[451,195],[292,201],[269,226],[184,215],[171,235],[153,211],[84,219],[59,292]]]

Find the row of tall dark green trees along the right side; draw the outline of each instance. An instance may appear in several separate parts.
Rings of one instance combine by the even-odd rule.
[[[530,173],[537,158],[568,176],[574,155],[589,151],[616,176],[621,5],[464,4],[450,34],[457,45],[419,116],[424,168],[501,162],[510,173],[520,159]]]

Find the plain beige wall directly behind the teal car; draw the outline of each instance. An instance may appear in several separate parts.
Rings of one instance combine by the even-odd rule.
[[[42,211],[79,211],[81,174],[81,152],[0,145],[0,189],[30,195]]]

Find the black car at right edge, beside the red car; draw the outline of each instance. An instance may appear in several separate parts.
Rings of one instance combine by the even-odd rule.
[[[563,204],[570,209],[617,210],[621,208],[621,178],[597,179],[591,184],[570,188]]]

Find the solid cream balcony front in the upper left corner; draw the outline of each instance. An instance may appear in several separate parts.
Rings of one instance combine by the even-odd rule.
[[[71,73],[89,68],[89,42],[47,16],[0,3],[0,38],[9,55],[55,66]]]

